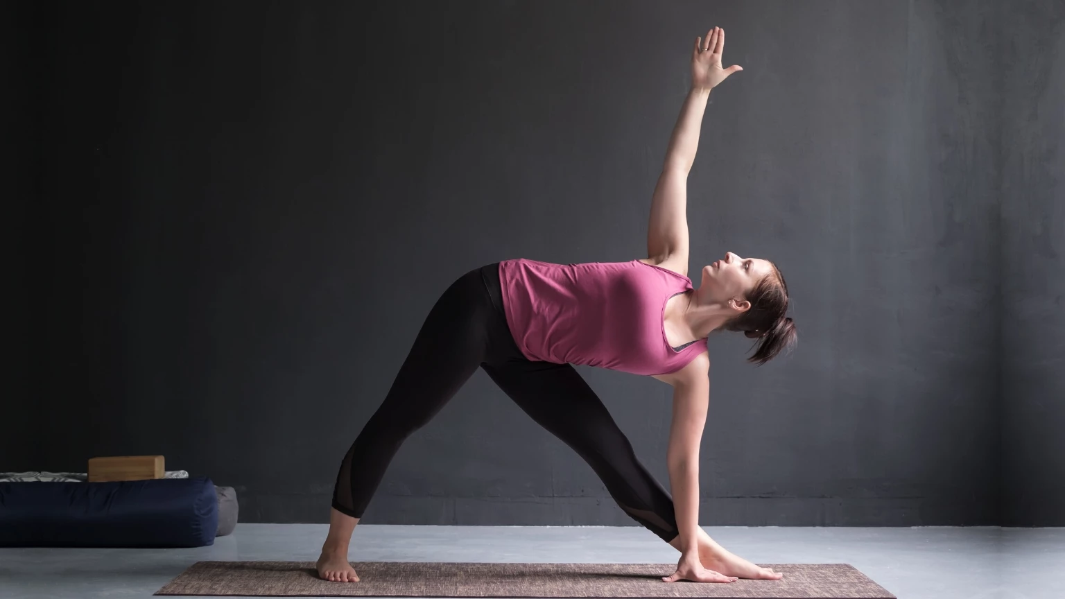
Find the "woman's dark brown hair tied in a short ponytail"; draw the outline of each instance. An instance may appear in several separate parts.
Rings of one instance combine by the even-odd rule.
[[[773,264],[773,274],[759,280],[744,300],[751,303],[751,309],[722,328],[759,339],[758,349],[748,361],[761,366],[798,340],[794,321],[784,315],[788,310],[788,286],[776,264]]]

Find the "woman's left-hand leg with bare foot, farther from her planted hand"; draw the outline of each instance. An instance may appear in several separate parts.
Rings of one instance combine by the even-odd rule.
[[[347,561],[356,524],[404,440],[432,420],[485,359],[485,323],[494,313],[476,270],[452,284],[429,311],[388,394],[341,462],[318,558],[323,579],[359,580]]]

